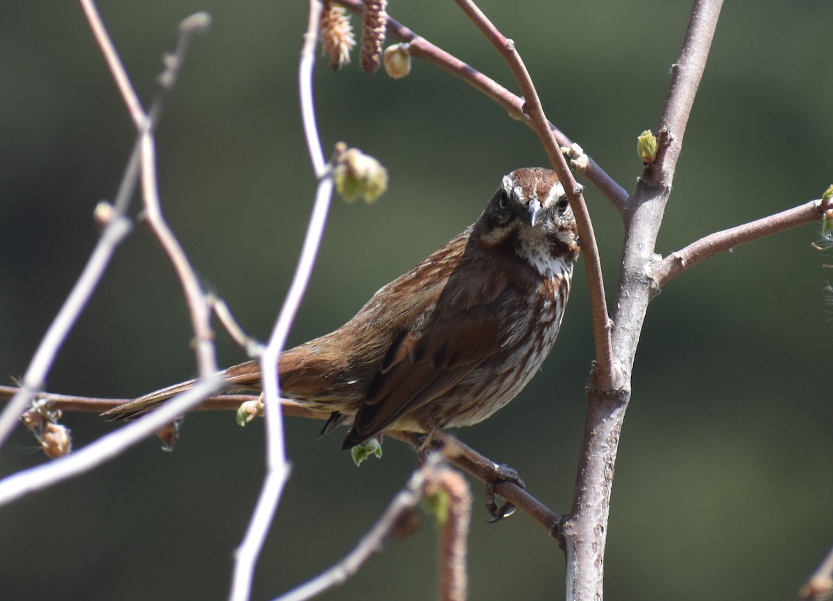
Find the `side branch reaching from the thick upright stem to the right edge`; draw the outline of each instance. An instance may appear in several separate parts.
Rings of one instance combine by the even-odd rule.
[[[790,230],[793,227],[818,221],[824,216],[825,211],[831,209],[831,206],[833,206],[831,201],[810,201],[775,215],[750,221],[742,226],[717,231],[692,242],[680,251],[672,252],[656,266],[652,274],[654,286],[659,291],[662,286],[665,286],[671,279],[679,276],[689,267],[719,252],[728,251],[735,246]]]

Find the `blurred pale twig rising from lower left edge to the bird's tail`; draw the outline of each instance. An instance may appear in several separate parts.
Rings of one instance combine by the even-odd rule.
[[[176,420],[177,416],[187,411],[188,407],[217,392],[221,386],[222,380],[214,376],[199,380],[192,389],[174,397],[165,406],[142,417],[141,420],[131,422],[119,430],[104,435],[71,454],[7,476],[0,480],[0,506],[19,499],[24,494],[82,474],[116,457],[130,446],[153,435],[162,426]]]

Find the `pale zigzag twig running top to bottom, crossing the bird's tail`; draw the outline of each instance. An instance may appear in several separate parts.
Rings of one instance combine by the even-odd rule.
[[[267,474],[246,535],[235,552],[232,590],[229,594],[229,599],[233,601],[244,601],[249,598],[257,557],[260,555],[269,525],[272,524],[277,504],[281,499],[283,486],[289,478],[289,464],[287,464],[283,440],[283,418],[279,398],[280,382],[278,380],[277,361],[284,345],[286,345],[289,328],[295,319],[304,291],[307,289],[307,282],[312,273],[318,247],[321,244],[332,197],[332,177],[328,175],[327,166],[324,162],[321,142],[315,124],[315,108],[312,97],[312,67],[315,63],[315,45],[321,11],[321,2],[311,0],[307,33],[304,37],[301,64],[299,66],[304,132],[307,136],[307,146],[310,149],[312,165],[318,178],[318,187],[315,206],[312,209],[312,217],[309,226],[307,226],[307,236],[304,239],[301,251],[301,258],[298,261],[295,276],[292,278],[292,286],[289,288],[287,299],[284,301],[281,313],[278,315],[277,322],[272,330],[267,349],[260,358],[267,429]]]

